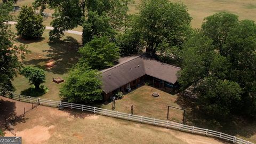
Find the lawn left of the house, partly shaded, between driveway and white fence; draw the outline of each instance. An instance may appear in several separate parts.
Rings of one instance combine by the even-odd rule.
[[[12,26],[11,29],[15,30]],[[59,87],[60,84],[52,82],[53,77],[67,76],[68,70],[77,63],[78,47],[81,45],[81,36],[74,34],[65,34],[59,41],[49,41],[49,30],[45,30],[43,37],[36,41],[25,41],[17,37],[16,44],[26,44],[31,53],[26,55],[25,65],[40,67],[46,70],[46,82],[44,85],[49,88],[49,92],[42,95],[41,98],[60,100]],[[46,63],[54,61],[54,66],[49,68]],[[16,87],[15,93],[21,93],[27,90],[30,86],[27,79],[18,75],[13,80],[13,85]]]

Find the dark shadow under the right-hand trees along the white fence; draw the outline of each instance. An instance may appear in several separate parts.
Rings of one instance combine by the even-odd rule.
[[[230,135],[239,135],[250,138],[256,134],[256,122],[237,116],[230,116],[223,120],[215,120],[214,117],[205,115],[197,106],[196,99],[189,95],[178,94],[178,105],[186,109],[185,124],[202,127],[227,133]]]

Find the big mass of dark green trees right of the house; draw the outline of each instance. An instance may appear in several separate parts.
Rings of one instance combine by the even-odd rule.
[[[219,118],[256,116],[256,25],[237,19],[230,13],[206,18],[182,51],[178,80],[182,89],[191,86],[199,107]],[[222,25],[216,27],[216,21]]]

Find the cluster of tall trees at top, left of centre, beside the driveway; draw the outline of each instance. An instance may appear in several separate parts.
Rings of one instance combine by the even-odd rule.
[[[41,11],[48,6],[54,9],[54,27],[50,32],[51,38],[60,38],[63,32],[77,26],[83,27],[83,43],[94,36],[114,37],[115,31],[123,27],[127,3],[130,0],[36,0],[35,7]]]

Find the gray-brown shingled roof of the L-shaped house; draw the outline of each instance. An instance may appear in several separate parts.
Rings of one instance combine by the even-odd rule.
[[[143,75],[153,76],[174,84],[178,79],[176,74],[179,70],[179,67],[140,55],[102,70],[102,90],[109,93]]]

